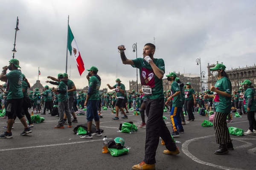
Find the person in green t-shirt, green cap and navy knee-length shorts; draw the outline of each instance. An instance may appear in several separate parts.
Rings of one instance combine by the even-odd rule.
[[[99,108],[99,88],[101,85],[101,78],[98,75],[98,69],[95,66],[92,66],[89,71],[88,75],[86,76],[89,89],[87,92],[87,97],[85,100],[84,105],[87,107],[87,133],[80,138],[87,138],[91,139],[93,136],[102,136],[102,133],[99,130],[99,115],[98,115],[98,108]],[[91,132],[93,119],[96,124],[96,132]]]

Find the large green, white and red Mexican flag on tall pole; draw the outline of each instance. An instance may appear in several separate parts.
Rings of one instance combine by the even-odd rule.
[[[67,49],[69,50],[71,57],[75,59],[78,72],[81,76],[82,73],[84,72],[84,62],[83,62],[83,59],[81,58],[78,46],[76,44],[75,37],[69,25],[68,25],[68,31],[67,31]]]

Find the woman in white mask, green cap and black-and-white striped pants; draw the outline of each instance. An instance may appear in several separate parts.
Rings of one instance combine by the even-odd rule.
[[[228,153],[228,149],[233,149],[233,144],[230,139],[230,133],[227,128],[227,115],[231,111],[231,82],[224,71],[226,66],[223,64],[216,64],[210,68],[212,75],[218,80],[215,86],[211,87],[211,91],[216,95],[205,95],[204,98],[214,98],[215,115],[213,120],[213,127],[215,130],[216,141],[219,144],[219,149],[215,150],[215,154],[222,155]]]

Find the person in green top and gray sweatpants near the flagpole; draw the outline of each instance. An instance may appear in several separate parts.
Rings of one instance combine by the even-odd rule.
[[[53,88],[55,94],[58,93],[58,113],[59,113],[59,119],[58,119],[58,125],[56,125],[54,128],[63,129],[64,128],[64,113],[67,116],[67,127],[72,127],[72,120],[71,120],[71,113],[70,113],[70,107],[69,107],[69,97],[67,95],[67,81],[64,80],[64,75],[62,73],[58,74],[58,80],[59,85],[58,89]]]

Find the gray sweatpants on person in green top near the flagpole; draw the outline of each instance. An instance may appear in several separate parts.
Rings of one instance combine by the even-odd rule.
[[[64,123],[64,113],[66,113],[67,115],[67,122],[69,124],[71,124],[71,113],[70,113],[70,108],[69,108],[69,101],[68,99],[65,101],[59,101],[58,103],[58,112],[59,112],[59,120],[58,120],[58,124],[63,125]]]

